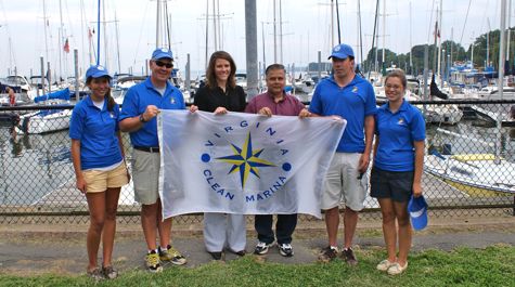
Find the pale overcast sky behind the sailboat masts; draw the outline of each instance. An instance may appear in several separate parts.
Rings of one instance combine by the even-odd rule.
[[[156,0],[102,0],[106,19],[107,53],[105,54],[103,29],[101,29],[101,63],[107,64],[110,71],[118,70],[118,50],[121,71],[132,67],[134,74],[141,74],[145,58],[156,45]],[[160,0],[163,1],[163,0]],[[40,56],[47,58],[55,70],[72,74],[72,55],[64,54],[59,64],[59,51],[64,42],[60,39],[60,2],[63,15],[63,39],[69,39],[70,50],[79,50],[79,65],[87,67],[88,27],[95,28],[96,0],[46,0],[48,18],[47,45],[44,37],[42,0],[0,0],[0,77],[8,68],[16,66],[18,74],[39,74]],[[209,3],[209,14],[213,0]],[[262,31],[265,30],[266,63],[274,61],[273,50],[273,0],[256,0],[258,58],[263,60]],[[326,58],[331,50],[331,1],[330,0],[275,0],[281,2],[283,32],[283,64],[295,63],[305,66],[317,61],[317,51],[322,51]],[[362,0],[361,26],[363,54],[371,49],[376,0]],[[379,13],[383,14],[383,0]],[[396,53],[407,53],[410,42],[423,44],[433,42],[433,29],[439,0],[387,0],[386,17],[379,18],[378,47],[385,47]],[[507,0],[510,2],[510,0]],[[359,57],[358,1],[339,1],[342,40],[355,48]],[[471,3],[471,5],[469,5]],[[442,40],[453,39],[465,49],[474,37],[489,29],[500,27],[501,0],[453,0],[443,1]],[[221,49],[231,53],[239,69],[245,69],[245,1],[219,0],[221,15]],[[411,10],[410,10],[411,6]],[[469,6],[469,9],[468,9]],[[515,9],[512,8],[512,11]],[[171,42],[176,56],[176,67],[184,69],[186,53],[190,53],[192,78],[197,70],[205,67],[206,37],[206,0],[169,0],[168,10],[171,17]],[[465,17],[468,10],[468,18]],[[279,14],[279,12],[278,12]],[[513,13],[512,13],[513,14]],[[411,15],[411,17],[410,17]],[[336,14],[335,14],[336,18]],[[513,15],[511,17],[513,19]],[[115,24],[117,21],[117,25]],[[513,22],[513,21],[512,21]],[[262,23],[262,24],[261,24]],[[383,25],[384,24],[384,25]],[[515,23],[512,23],[512,26]],[[279,15],[276,18],[279,34]],[[118,42],[116,37],[118,27]],[[208,53],[214,49],[213,19],[209,21]],[[383,26],[385,32],[383,32]],[[263,29],[261,28],[263,27]],[[410,29],[411,27],[411,29]],[[411,31],[410,31],[411,30]],[[386,35],[383,37],[383,35]],[[10,39],[10,40],[9,40]],[[96,36],[94,36],[96,42]],[[335,28],[335,41],[337,30]],[[279,36],[278,36],[279,44]],[[48,51],[48,52],[47,52]],[[280,62],[280,48],[278,58]]]

